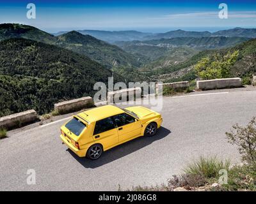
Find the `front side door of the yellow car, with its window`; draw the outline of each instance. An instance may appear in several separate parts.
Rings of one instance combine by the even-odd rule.
[[[114,115],[113,120],[118,130],[119,142],[125,142],[136,136],[140,136],[141,122],[127,113]]]

